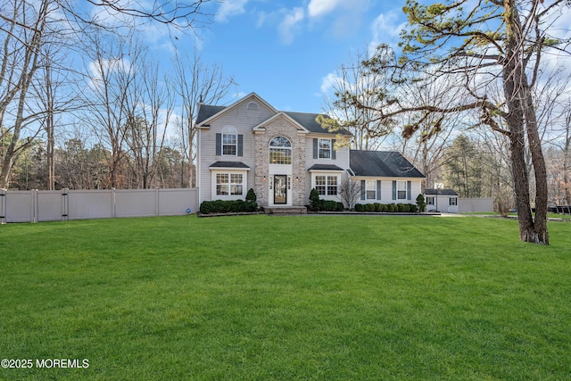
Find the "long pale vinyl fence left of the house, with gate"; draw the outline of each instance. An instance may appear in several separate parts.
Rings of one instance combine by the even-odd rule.
[[[0,223],[177,216],[198,210],[198,189],[6,191]]]

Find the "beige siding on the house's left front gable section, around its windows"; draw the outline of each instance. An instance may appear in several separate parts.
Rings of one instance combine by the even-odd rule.
[[[211,127],[200,131],[200,203],[211,200],[212,181],[211,170],[209,167],[214,162],[244,162],[250,170],[247,175],[248,187],[254,184],[254,141],[252,128],[260,124],[263,120],[269,119],[274,112],[258,103],[259,110],[248,110],[250,100],[246,100],[239,104],[233,110],[229,110],[222,114],[219,118],[211,120]],[[238,135],[244,137],[243,156],[226,156],[216,155],[216,134],[222,132],[225,126],[233,126],[236,128]],[[244,197],[248,189],[244,191]]]

